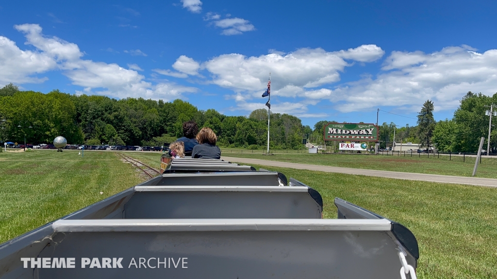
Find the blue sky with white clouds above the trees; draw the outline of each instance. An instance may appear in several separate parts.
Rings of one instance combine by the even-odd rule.
[[[0,86],[416,125],[497,92],[496,1],[0,1]]]

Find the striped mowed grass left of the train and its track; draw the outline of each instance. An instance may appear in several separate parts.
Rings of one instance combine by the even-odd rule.
[[[113,152],[3,152],[0,243],[140,182]]]

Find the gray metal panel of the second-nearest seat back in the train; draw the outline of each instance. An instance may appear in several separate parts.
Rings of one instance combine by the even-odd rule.
[[[290,190],[293,187],[278,188]],[[181,189],[137,192],[124,205],[123,216],[126,219],[321,218],[321,207],[309,196],[307,189],[305,192],[238,190],[241,191]]]

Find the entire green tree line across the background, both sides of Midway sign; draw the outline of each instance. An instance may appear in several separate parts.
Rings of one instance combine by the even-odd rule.
[[[379,127],[380,148],[394,141],[434,146],[440,151],[476,152],[481,137],[487,138],[490,105],[497,104],[497,93],[487,96],[468,92],[452,119],[435,122],[434,104],[427,100],[417,116],[417,126],[396,126],[386,122]],[[495,108],[494,108],[495,110]],[[267,111],[257,109],[246,116],[226,116],[214,109],[199,110],[192,104],[174,100],[143,98],[112,99],[100,95],[70,95],[19,91],[13,84],[0,88],[0,141],[51,143],[64,136],[71,144],[110,144],[160,146],[182,136],[182,123],[195,120],[199,127],[210,127],[224,147],[265,148]],[[302,139],[323,142],[323,126],[302,125],[292,115],[271,113],[270,148],[304,148]],[[1,121],[5,119],[5,122]],[[497,124],[497,120],[494,120]],[[20,126],[20,127],[19,127]],[[31,127],[31,128],[29,128]],[[497,153],[497,130],[491,134],[491,152]]]

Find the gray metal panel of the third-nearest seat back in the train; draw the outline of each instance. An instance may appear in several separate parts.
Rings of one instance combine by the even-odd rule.
[[[157,179],[157,180],[155,180]],[[230,173],[188,173],[163,174],[156,177],[152,183],[142,183],[140,186],[279,186],[277,172],[230,172]]]

